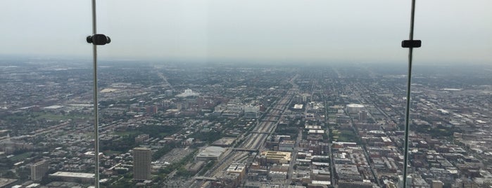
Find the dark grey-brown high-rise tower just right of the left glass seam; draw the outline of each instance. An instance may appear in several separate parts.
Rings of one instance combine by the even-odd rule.
[[[133,179],[151,179],[152,152],[149,148],[135,147],[133,149]]]

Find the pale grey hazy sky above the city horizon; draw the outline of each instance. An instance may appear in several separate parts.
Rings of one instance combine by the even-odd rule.
[[[0,54],[90,58],[89,0],[1,0]],[[101,58],[405,61],[410,0],[103,0]],[[491,0],[417,1],[421,62],[492,62]]]

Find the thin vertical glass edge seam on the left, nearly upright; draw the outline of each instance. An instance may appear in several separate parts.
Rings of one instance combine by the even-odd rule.
[[[96,0],[92,0],[92,34],[96,34]],[[92,44],[93,74],[94,74],[94,158],[96,163],[96,175],[94,186],[99,188],[99,108],[97,100],[97,46]]]

